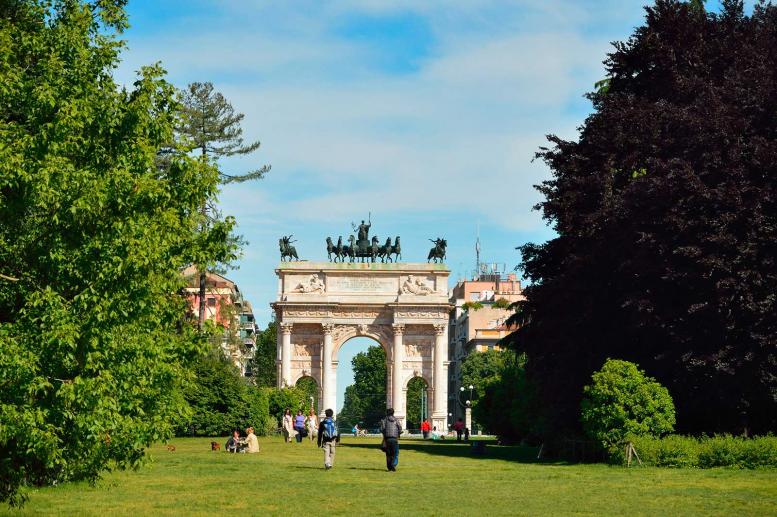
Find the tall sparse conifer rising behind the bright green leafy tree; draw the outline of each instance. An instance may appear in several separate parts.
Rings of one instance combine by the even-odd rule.
[[[212,83],[191,83],[183,95],[181,123],[177,131],[180,137],[192,149],[198,150],[204,161],[210,159],[214,164],[220,158],[246,155],[259,149],[260,143],[243,143],[243,128],[240,123],[245,115],[235,113],[235,109],[224,96],[213,89]],[[221,183],[242,183],[261,179],[269,172],[270,166],[264,165],[247,174],[235,175],[219,171]],[[211,226],[220,222],[220,214],[215,206],[215,198],[207,200],[200,209],[202,232],[208,234]],[[202,330],[205,321],[205,277],[209,266],[200,264],[200,293],[198,328]]]

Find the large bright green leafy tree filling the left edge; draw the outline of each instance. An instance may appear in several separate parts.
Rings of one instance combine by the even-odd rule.
[[[184,266],[213,259],[196,229],[218,175],[182,153],[157,166],[175,90],[159,67],[114,83],[123,3],[0,5],[0,499],[12,504],[26,486],[140,465],[186,419],[185,365],[205,345],[176,293]]]

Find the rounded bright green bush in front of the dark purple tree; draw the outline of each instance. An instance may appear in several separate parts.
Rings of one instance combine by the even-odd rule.
[[[605,449],[626,436],[660,436],[674,429],[669,391],[628,361],[608,359],[583,389],[585,433]]]

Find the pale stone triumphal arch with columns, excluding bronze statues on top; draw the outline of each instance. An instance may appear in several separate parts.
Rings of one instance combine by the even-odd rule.
[[[282,262],[272,304],[279,387],[312,377],[319,408],[336,409],[340,347],[367,336],[386,351],[386,404],[403,425],[407,384],[421,377],[432,425],[447,428],[449,273],[442,263]]]

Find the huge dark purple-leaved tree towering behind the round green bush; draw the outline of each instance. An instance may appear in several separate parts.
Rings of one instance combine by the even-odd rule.
[[[607,357],[669,388],[679,430],[775,431],[777,7],[659,0],[605,65],[579,139],[539,153],[558,236],[521,250],[510,341],[547,432],[579,432]]]

